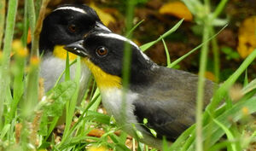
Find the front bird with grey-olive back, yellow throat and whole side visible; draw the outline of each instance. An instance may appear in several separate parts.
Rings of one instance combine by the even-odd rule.
[[[125,44],[131,46],[127,88],[123,85],[123,58],[129,50]],[[137,44],[113,32],[90,32],[65,49],[82,56],[96,79],[103,107],[124,131],[137,137],[135,125],[143,134],[138,137],[141,142],[161,149],[163,136],[173,142],[195,123],[197,75],[157,65]],[[211,80],[205,82],[204,107],[210,102],[214,87]],[[148,122],[143,122],[144,119]]]

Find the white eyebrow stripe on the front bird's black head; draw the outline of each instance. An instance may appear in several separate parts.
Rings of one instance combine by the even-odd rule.
[[[123,41],[125,41],[125,42],[127,42],[127,43],[133,45],[134,47],[136,47],[136,48],[140,51],[140,53],[143,55],[143,57],[144,57],[147,61],[150,61],[148,55],[145,55],[145,54],[143,53],[143,51],[142,51],[141,49],[139,49],[139,47],[137,46],[137,44],[133,43],[133,42],[132,42],[130,39],[128,39],[128,38],[125,38],[125,37],[120,36],[120,35],[115,34],[115,33],[98,33],[98,34],[96,34],[96,35],[102,36],[102,37],[105,37],[105,38],[116,38],[116,39],[119,39],[119,40],[123,40]]]

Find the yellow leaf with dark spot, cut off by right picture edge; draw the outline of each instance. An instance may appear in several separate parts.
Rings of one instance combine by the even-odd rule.
[[[247,18],[241,23],[238,33],[237,51],[242,58],[256,49],[256,16]]]

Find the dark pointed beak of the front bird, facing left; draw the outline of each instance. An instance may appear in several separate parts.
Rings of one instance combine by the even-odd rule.
[[[67,49],[67,51],[69,51],[75,55],[85,57],[85,56],[88,56],[88,53],[87,53],[87,50],[84,49],[83,43],[84,43],[84,40],[79,40],[72,44],[67,44],[64,47],[64,49]]]

